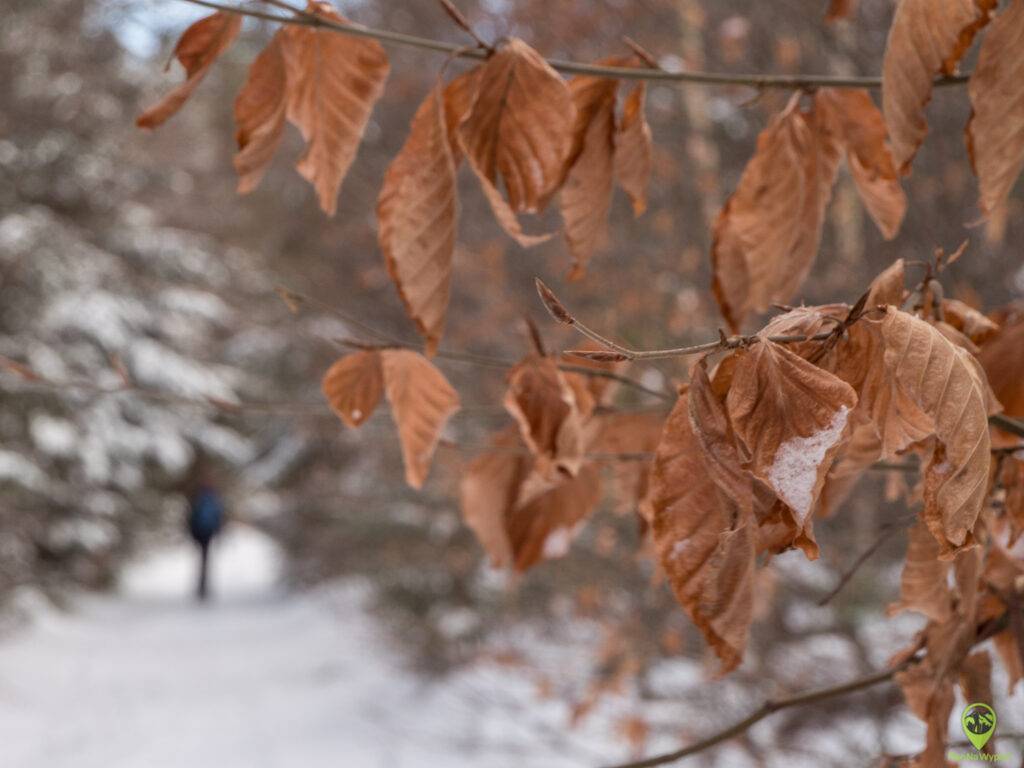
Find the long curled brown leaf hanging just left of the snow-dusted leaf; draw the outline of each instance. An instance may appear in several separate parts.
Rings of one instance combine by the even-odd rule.
[[[666,422],[650,482],[662,567],[722,673],[729,672],[742,660],[750,634],[756,523],[712,479],[685,392]]]

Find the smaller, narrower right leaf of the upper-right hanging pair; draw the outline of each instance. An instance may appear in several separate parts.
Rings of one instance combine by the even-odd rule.
[[[882,113],[861,89],[822,88],[814,103],[835,123],[860,199],[883,237],[892,240],[906,213],[906,195],[886,144]]]

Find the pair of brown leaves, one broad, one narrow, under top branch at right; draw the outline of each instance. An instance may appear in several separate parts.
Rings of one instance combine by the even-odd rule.
[[[790,301],[803,284],[841,156],[886,239],[896,236],[906,211],[882,114],[867,91],[822,88],[808,101],[803,108],[794,94],[761,132],[715,221],[713,289],[733,331],[751,312]]]

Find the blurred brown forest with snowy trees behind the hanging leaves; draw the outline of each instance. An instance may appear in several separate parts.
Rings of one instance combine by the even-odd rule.
[[[878,73],[892,12],[890,0],[861,0],[851,20],[826,24],[821,0],[459,5],[485,38],[514,34],[552,57],[627,52],[621,39],[629,35],[667,69],[834,75]],[[340,7],[368,26],[465,42],[437,3]],[[104,589],[127,558],[180,539],[181,492],[201,463],[233,517],[283,545],[297,589],[341,577],[369,583],[376,615],[417,674],[443,684],[467,665],[507,666],[537,700],[564,705],[563,726],[614,699],[614,735],[631,749],[671,746],[767,695],[876,670],[920,626],[884,610],[896,598],[899,523],[908,519],[901,502],[880,500],[894,498],[886,486],[904,482],[899,475],[865,479],[846,514],[819,525],[818,562],[779,558],[748,658],[724,683],[702,682],[698,633],[656,580],[636,516],[610,500],[564,558],[514,583],[490,571],[461,521],[457,478],[509,421],[504,371],[438,360],[464,408],[421,494],[400,480],[390,417],[379,412],[346,430],[319,392],[339,355],[333,339],[367,338],[365,324],[416,341],[378,251],[374,211],[384,170],[443,57],[389,48],[388,87],[329,219],[291,168],[300,153],[293,129],[260,188],[234,194],[231,103],[269,25],[247,22],[165,128],[134,127],[138,112],[178,82],[174,68],[162,74],[164,61],[203,13],[170,0],[4,4],[0,354],[46,380],[0,369],[0,601],[8,617],[26,589],[56,601],[69,588]],[[950,270],[952,296],[990,310],[1024,294],[1020,193],[993,222],[971,226],[976,188],[962,133],[969,108],[951,96],[938,89],[929,108],[931,133],[904,182],[910,204],[894,241],[881,239],[841,175],[805,284],[808,303],[853,301],[895,258],[928,258],[968,238]],[[518,248],[464,170],[442,349],[513,361],[528,349],[524,316],[549,348],[575,346],[547,318],[536,275],[590,325],[635,348],[714,338],[722,322],[709,290],[710,222],[786,97],[652,85],[648,211],[634,219],[616,193],[610,242],[577,283],[564,282],[565,244]],[[305,297],[297,312],[279,287]],[[685,380],[685,361],[631,375],[671,388]],[[635,392],[618,397],[666,404]],[[868,567],[818,606],[894,521]],[[534,653],[551,646],[577,649],[573,665]],[[996,709],[1011,720],[1013,708]],[[697,762],[760,764],[756,756],[771,743],[771,764],[867,765],[914,751],[922,734],[899,691],[883,686],[782,713]]]

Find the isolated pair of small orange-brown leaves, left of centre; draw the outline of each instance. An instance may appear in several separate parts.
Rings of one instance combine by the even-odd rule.
[[[440,371],[409,349],[361,351],[335,362],[323,389],[349,427],[370,417],[383,389],[398,428],[406,482],[423,486],[441,430],[459,410],[459,395]]]

